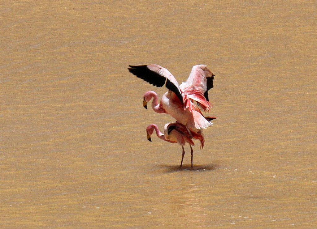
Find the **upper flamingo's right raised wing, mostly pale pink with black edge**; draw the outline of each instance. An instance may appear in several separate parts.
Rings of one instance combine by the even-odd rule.
[[[195,65],[185,84],[204,93],[207,101],[208,90],[213,87],[214,74],[207,68],[207,65]]]

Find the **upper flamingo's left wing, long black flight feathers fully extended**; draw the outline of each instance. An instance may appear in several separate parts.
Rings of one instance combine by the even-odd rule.
[[[183,104],[182,92],[175,77],[160,65],[129,65],[128,70],[135,76],[157,87],[165,86],[174,92]]]

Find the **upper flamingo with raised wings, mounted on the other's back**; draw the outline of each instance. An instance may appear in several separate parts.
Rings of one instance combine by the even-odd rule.
[[[147,91],[143,96],[146,109],[147,103],[153,98],[152,108],[155,112],[170,114],[178,123],[196,133],[212,124],[194,104],[195,101],[204,111],[210,110],[208,90],[213,87],[215,75],[207,65],[193,66],[186,82],[180,85],[171,72],[160,65],[129,65],[128,70],[154,86],[162,87],[165,84],[168,89],[160,103],[154,91]]]

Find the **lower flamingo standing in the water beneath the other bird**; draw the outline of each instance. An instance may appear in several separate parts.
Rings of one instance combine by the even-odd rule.
[[[210,120],[215,119],[215,117],[209,117]],[[156,124],[151,124],[146,128],[146,134],[147,139],[152,142],[151,135],[152,133],[156,132],[156,135],[159,139],[162,139],[167,142],[171,143],[178,143],[182,146],[183,152],[182,152],[182,161],[180,163],[180,168],[183,164],[183,159],[185,155],[184,145],[186,142],[191,147],[192,145],[195,145],[192,139],[198,139],[200,141],[200,148],[202,149],[204,147],[204,135],[202,133],[196,133],[194,131],[188,131],[188,129],[181,123],[175,122],[175,123],[166,123],[164,126],[164,133],[161,133],[159,131],[159,128]],[[193,167],[193,148],[191,147],[191,168]]]

